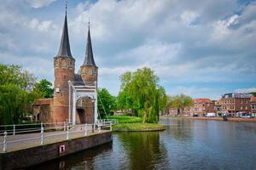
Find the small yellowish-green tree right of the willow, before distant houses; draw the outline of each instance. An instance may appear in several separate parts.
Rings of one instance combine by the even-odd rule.
[[[180,114],[183,115],[184,109],[188,108],[192,105],[194,105],[194,101],[192,98],[190,98],[187,95],[180,94],[180,95],[176,95],[173,97],[169,96],[166,108],[167,109],[175,108],[175,109],[177,109],[178,115],[180,115]]]

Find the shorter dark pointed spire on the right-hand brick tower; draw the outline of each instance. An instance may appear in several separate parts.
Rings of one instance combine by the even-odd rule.
[[[96,66],[95,61],[93,59],[93,52],[92,52],[91,39],[90,39],[90,20],[89,20],[89,26],[88,26],[85,59],[84,59],[83,65],[95,65]]]

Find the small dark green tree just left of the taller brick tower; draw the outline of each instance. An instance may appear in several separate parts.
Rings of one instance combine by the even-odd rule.
[[[33,88],[33,91],[38,93],[41,98],[52,98],[54,94],[52,83],[46,79],[42,79],[40,82],[37,82]]]

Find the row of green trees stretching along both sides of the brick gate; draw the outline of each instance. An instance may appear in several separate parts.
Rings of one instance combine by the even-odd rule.
[[[160,86],[160,79],[149,68],[125,72],[119,77],[120,89],[117,96],[107,88],[98,89],[99,118],[114,111],[130,111],[140,116],[143,122],[158,122],[160,113],[168,108],[177,108],[181,114],[193,100],[183,94],[170,97]],[[54,89],[46,79],[37,78],[19,65],[0,64],[0,124],[24,122],[32,115],[35,99],[52,98]]]

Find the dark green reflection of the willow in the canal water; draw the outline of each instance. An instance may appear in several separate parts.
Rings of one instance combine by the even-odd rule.
[[[169,167],[166,148],[160,142],[159,132],[119,133],[118,138],[125,148],[130,169]]]

